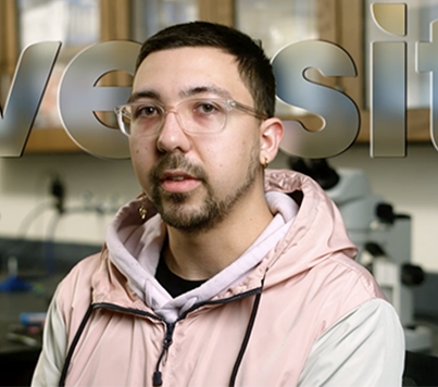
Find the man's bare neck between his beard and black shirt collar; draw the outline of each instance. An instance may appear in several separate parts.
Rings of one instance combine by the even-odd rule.
[[[168,269],[185,279],[208,279],[237,260],[262,234],[273,215],[264,195],[250,207],[237,207],[216,227],[187,234],[167,227],[163,247]]]

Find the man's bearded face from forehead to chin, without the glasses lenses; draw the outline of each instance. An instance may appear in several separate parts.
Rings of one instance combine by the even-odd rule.
[[[151,53],[135,76],[133,96],[167,109],[198,97],[234,99],[253,107],[234,58],[213,48]],[[145,192],[163,220],[180,230],[214,227],[251,200],[261,186],[260,121],[238,110],[214,134],[186,133],[170,113],[159,133],[132,136],[129,146]]]

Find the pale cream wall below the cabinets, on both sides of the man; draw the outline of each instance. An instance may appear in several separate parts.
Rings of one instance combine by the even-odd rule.
[[[397,212],[412,215],[413,261],[438,272],[438,151],[431,145],[410,146],[404,159],[372,159],[368,147],[354,146],[329,162],[336,167],[363,168],[376,195],[392,203]],[[271,166],[287,167],[286,155],[279,154]],[[108,161],[88,154],[0,159],[0,237],[17,237],[28,225],[28,237],[48,237],[52,210],[32,222],[26,216],[51,201],[48,192],[53,173],[65,182],[67,208],[83,205],[87,190],[105,207],[114,207],[115,201],[120,205],[140,192],[128,160]],[[55,228],[55,239],[100,244],[111,214],[65,215]]]

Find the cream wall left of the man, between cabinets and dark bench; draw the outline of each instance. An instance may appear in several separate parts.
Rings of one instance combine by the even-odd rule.
[[[108,210],[103,215],[65,214],[54,229],[57,240],[101,244],[115,209],[141,192],[129,160],[101,160],[85,153],[0,159],[0,236],[18,237],[27,228],[29,238],[50,237],[55,211],[46,209],[38,216],[32,213],[52,202],[49,191],[54,174],[65,184],[67,210],[87,203]],[[84,199],[89,198],[84,192],[92,195],[91,201]]]

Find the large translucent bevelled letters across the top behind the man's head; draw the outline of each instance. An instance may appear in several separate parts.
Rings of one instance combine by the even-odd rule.
[[[397,11],[397,12],[393,12]],[[372,4],[373,20],[388,35],[405,36],[405,4]],[[0,157],[20,158],[33,127],[61,42],[43,41],[25,48],[0,110]],[[105,74],[134,73],[140,43],[107,41],[92,45],[67,65],[59,88],[63,126],[85,151],[107,159],[129,157],[127,138],[97,118],[125,103],[129,87],[96,86]],[[404,157],[406,143],[406,42],[371,42],[371,155]],[[416,42],[416,71],[430,74],[430,140],[438,150],[438,22],[430,23],[430,41]],[[322,117],[324,126],[308,130],[298,121],[284,121],[280,148],[292,155],[320,159],[345,152],[355,141],[360,112],[352,99],[335,88],[318,85],[304,74],[310,67],[325,76],[356,76],[355,64],[340,46],[303,40],[283,48],[272,60],[277,96],[284,102]]]

